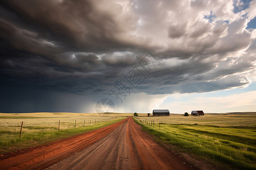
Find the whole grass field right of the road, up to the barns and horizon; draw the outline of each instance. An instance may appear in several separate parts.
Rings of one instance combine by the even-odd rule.
[[[136,118],[164,143],[224,169],[256,169],[256,114],[205,114]],[[151,121],[152,126],[151,126]],[[160,123],[160,129],[159,129]],[[154,126],[154,127],[153,127]]]

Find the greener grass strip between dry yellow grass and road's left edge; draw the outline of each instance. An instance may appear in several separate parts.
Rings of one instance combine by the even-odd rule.
[[[117,118],[111,121],[92,122],[92,124],[87,124],[85,127],[80,123],[77,124],[76,128],[73,122],[62,122],[61,126],[65,126],[65,128],[60,130],[56,126],[24,125],[21,138],[19,138],[20,126],[0,127],[0,154],[71,137],[114,124],[123,119]]]

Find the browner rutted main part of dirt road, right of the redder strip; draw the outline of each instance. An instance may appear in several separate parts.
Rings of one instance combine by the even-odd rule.
[[[159,146],[130,117],[106,137],[48,169],[196,168],[179,155]]]

